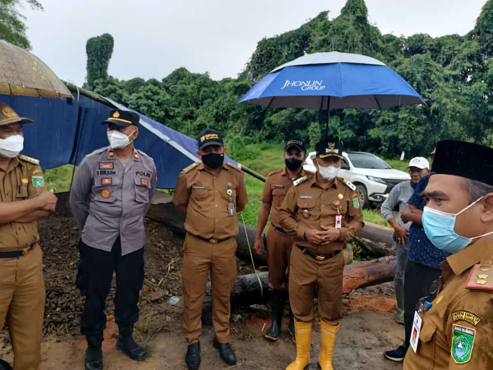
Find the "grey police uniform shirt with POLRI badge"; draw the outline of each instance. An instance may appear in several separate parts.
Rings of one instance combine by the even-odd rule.
[[[109,147],[86,155],[70,189],[70,208],[82,241],[109,252],[120,236],[122,256],[141,249],[156,181],[154,160],[141,150],[134,148],[125,167]]]

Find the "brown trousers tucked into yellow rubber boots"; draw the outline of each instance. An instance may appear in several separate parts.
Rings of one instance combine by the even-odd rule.
[[[293,245],[289,272],[289,301],[297,321],[314,320],[317,293],[318,314],[325,322],[341,319],[344,256],[318,261]]]

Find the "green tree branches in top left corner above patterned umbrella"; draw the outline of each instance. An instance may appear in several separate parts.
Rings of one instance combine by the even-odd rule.
[[[35,10],[43,10],[36,0],[0,0],[0,39],[30,50],[31,43],[26,35],[26,17],[18,10],[27,3]]]

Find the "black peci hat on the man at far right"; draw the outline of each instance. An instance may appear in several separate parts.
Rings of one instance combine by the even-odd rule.
[[[458,140],[439,141],[431,172],[493,185],[493,148]]]

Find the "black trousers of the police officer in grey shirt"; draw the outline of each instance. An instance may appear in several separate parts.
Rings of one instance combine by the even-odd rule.
[[[115,322],[133,325],[139,320],[139,293],[144,281],[144,248],[122,256],[120,237],[111,251],[79,242],[77,288],[86,297],[80,331],[86,336],[102,335],[106,328],[106,297],[116,272]]]

